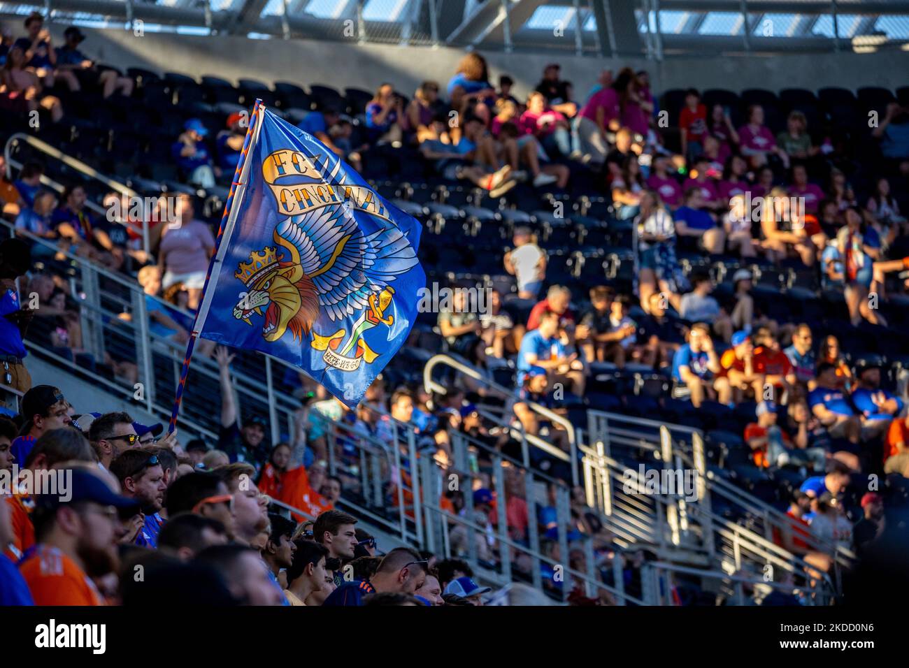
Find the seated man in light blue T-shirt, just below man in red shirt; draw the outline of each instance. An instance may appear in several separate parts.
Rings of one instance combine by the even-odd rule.
[[[583,366],[576,353],[565,351],[559,321],[559,314],[547,309],[538,316],[539,326],[524,334],[517,355],[517,384],[524,385],[524,376],[529,372],[542,370],[552,383],[568,383],[573,394],[584,396]]]

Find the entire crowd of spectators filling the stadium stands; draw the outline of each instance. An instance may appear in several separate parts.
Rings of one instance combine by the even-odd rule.
[[[91,87],[105,98],[133,95],[132,79],[95,65],[78,51],[85,35],[77,28],[66,30],[65,45],[59,47],[52,45],[40,15],[30,15],[25,29],[27,36],[15,41],[5,36],[0,45],[5,61],[0,106],[7,111],[36,111],[59,122],[65,109],[47,92],[62,86],[71,93]],[[217,444],[183,447],[168,436],[151,448],[137,448],[141,441],[132,434],[144,436],[138,432],[145,428],[125,414],[94,415],[92,427],[85,424],[85,415],[92,414],[80,415],[74,424],[85,433],[83,442],[65,427],[73,409],[62,397],[52,404],[65,404],[63,414],[49,413],[51,404],[37,410],[24,405],[24,424],[5,426],[6,440],[27,438],[35,446],[30,457],[21,441],[18,447],[11,444],[15,459],[8,460],[8,467],[13,461],[39,469],[68,463],[82,494],[72,505],[54,504],[43,512],[40,503],[33,508],[27,499],[12,505],[15,531],[35,530],[32,542],[22,537],[25,533],[15,539],[18,552],[13,555],[24,559],[20,570],[36,602],[65,602],[53,592],[70,591],[45,583],[42,551],[63,564],[55,573],[82,583],[73,585],[84,596],[80,601],[129,603],[131,597],[155,595],[123,578],[118,585],[112,575],[117,573],[118,544],[123,563],[145,559],[147,570],[154,564],[162,577],[188,578],[187,569],[220,576],[224,600],[439,604],[445,598],[448,604],[463,603],[451,598],[456,594],[478,601],[485,592],[469,579],[466,564],[434,565],[432,555],[408,550],[375,559],[375,541],[357,536],[355,518],[334,509],[344,494],[358,490],[355,475],[327,475],[328,450],[338,446],[327,437],[330,425],[347,424],[353,434],[393,444],[396,423],[417,434],[443,470],[451,465],[454,432],[514,452],[519,445],[501,429],[505,424],[567,447],[562,427],[544,421],[532,407],[542,405],[566,416],[576,407],[603,407],[595,382],[603,370],[664,377],[668,395],[661,397],[660,408],[676,415],[722,418],[744,409],[747,418],[735,423],[740,433],[734,435],[750,462],[799,478],[788,509],[793,532],[777,536],[788,549],[806,551],[801,531],[859,551],[874,540],[883,525],[882,497],[861,495],[864,513],[853,527],[843,493],[850,475],[909,474],[909,395],[901,375],[906,364],[861,355],[861,344],[844,351],[840,342],[843,334],[850,343],[886,337],[906,322],[898,318],[888,329],[893,325],[884,311],[904,308],[909,288],[903,274],[909,270],[909,222],[901,214],[909,180],[909,99],[886,106],[880,124],[867,133],[874,151],[860,154],[857,135],[827,122],[808,127],[798,109],[778,131],[768,125],[767,112],[777,116],[775,109],[708,108],[695,90],[679,96],[676,106],[660,109],[647,73],[629,68],[615,75],[604,70],[583,96],[561,78],[555,64],[545,67],[524,99],[515,97],[511,77],[503,75],[497,83],[491,83],[483,56],[471,53],[447,85],[426,81],[407,100],[392,85],[382,84],[359,117],[346,115],[339,106],[319,105],[307,110],[299,127],[357,170],[368,171],[376,155],[401,150],[422,160],[425,173],[435,180],[465,182],[494,199],[519,184],[537,195],[554,195],[552,201],[579,189],[602,194],[611,203],[609,226],[624,234],[624,250],[631,254],[631,280],[601,276],[584,285],[585,294],[577,294],[552,280],[553,258],[538,231],[514,224],[507,228],[511,246],[497,267],[513,277],[507,288],[489,289],[488,307],[479,309],[469,282],[454,285],[464,290],[455,289],[451,308],[437,314],[439,344],[474,364],[488,380],[501,378],[503,371],[508,376],[513,392],[504,403],[501,424],[477,411],[476,404],[490,397],[481,384],[470,381],[437,396],[415,384],[395,384],[386,391],[379,380],[366,402],[386,415],[367,407],[348,409],[301,376],[295,379],[296,394],[303,398],[296,433],[289,434],[287,443],[271,446],[265,419],[253,416],[238,426],[230,376],[233,355],[208,342],[198,345],[196,354],[211,356],[221,371],[223,431]],[[190,192],[229,183],[243,145],[244,121],[243,113],[230,115],[213,141],[209,128],[190,118],[171,138],[169,158]],[[26,327],[30,338],[55,354],[135,382],[135,360],[95,359],[83,344],[79,306],[61,271],[65,252],[135,277],[146,295],[152,334],[173,354],[181,354],[215,252],[214,230],[197,215],[194,197],[174,192],[162,198],[158,209],[136,212],[128,198],[110,193],[100,204],[116,214],[97,216],[86,206],[84,186],[70,184],[63,194],[45,189],[43,165],[26,163],[15,180],[8,180],[8,174],[0,164],[4,217],[53,247],[31,244],[31,260],[41,271],[23,266],[18,249],[0,256],[5,264],[0,275],[5,285],[0,287],[8,290],[3,302],[7,317],[0,321],[2,333],[9,334],[0,343],[5,384],[22,391],[31,387],[23,363]],[[711,266],[695,262],[698,257],[736,267],[731,284]],[[835,322],[845,329],[833,331],[821,318],[799,322],[778,311],[769,313],[759,298],[759,283],[764,273],[781,269],[810,275],[825,295],[833,295],[827,304],[843,304],[845,317]],[[28,282],[22,294],[38,294],[42,304],[29,316],[31,323],[14,315],[25,309],[13,287],[17,277]],[[124,440],[128,447],[117,443]],[[343,450],[340,456],[344,458]],[[72,464],[74,460],[88,465]],[[534,455],[533,464],[557,478],[570,478],[564,464],[552,458]],[[521,489],[520,475],[513,473],[509,484]],[[479,481],[469,492],[478,513],[474,519],[493,527],[498,523],[494,495],[488,481],[482,482],[482,476]],[[385,491],[394,494],[394,485]],[[316,518],[315,526],[307,528],[304,515],[288,519],[284,506],[269,506],[264,494]],[[525,541],[534,518],[526,516],[525,503],[522,514],[520,494],[511,498],[508,532],[515,541]],[[452,513],[464,513],[463,493],[445,494],[440,503]],[[99,506],[105,507],[110,526],[102,526]],[[594,536],[597,550],[609,552],[611,536],[577,489],[572,513],[572,531]],[[540,524],[545,531],[547,523]],[[467,540],[455,548],[463,550]],[[129,547],[133,544],[142,550]],[[550,540],[546,550],[556,544]],[[495,563],[497,551],[504,549],[487,542],[479,548],[481,561],[488,563]],[[157,549],[154,556],[149,549]],[[573,551],[569,557],[566,561],[584,570],[583,554]],[[262,566],[262,577],[243,567],[254,561]],[[345,577],[347,565],[356,573],[353,579]],[[625,565],[634,570],[634,557]],[[95,572],[101,568],[107,570]],[[94,584],[86,588],[85,583]],[[601,599],[608,600],[608,594]]]

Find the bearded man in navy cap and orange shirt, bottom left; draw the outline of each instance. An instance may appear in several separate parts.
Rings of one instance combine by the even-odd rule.
[[[115,493],[110,474],[91,464],[72,469],[68,499],[40,494],[32,513],[35,550],[19,572],[37,605],[104,605],[93,578],[119,566],[119,513],[135,510],[134,499]]]

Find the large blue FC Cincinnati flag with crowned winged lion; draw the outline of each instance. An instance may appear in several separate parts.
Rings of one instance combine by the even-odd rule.
[[[197,334],[299,367],[359,403],[405,343],[426,277],[421,226],[261,105]]]

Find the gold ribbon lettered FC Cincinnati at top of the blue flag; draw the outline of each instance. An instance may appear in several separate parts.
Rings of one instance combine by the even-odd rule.
[[[282,215],[300,215],[331,204],[348,204],[355,209],[389,220],[388,211],[375,191],[365,185],[347,184],[279,184],[289,177],[305,176],[322,179],[316,169],[319,156],[308,158],[299,151],[281,149],[265,158],[262,176],[271,188],[277,201],[277,210]]]

